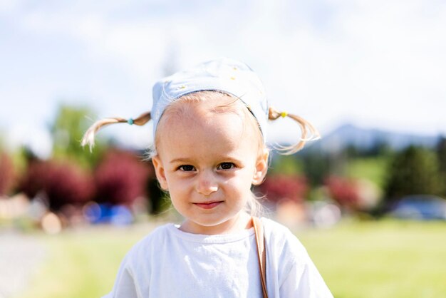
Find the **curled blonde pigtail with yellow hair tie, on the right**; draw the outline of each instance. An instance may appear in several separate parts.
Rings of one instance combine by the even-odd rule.
[[[295,120],[301,128],[301,138],[299,139],[298,143],[290,146],[281,146],[281,145],[276,146],[276,149],[281,151],[282,154],[284,155],[294,154],[297,151],[304,148],[304,145],[308,140],[318,140],[319,138],[321,138],[321,135],[318,133],[318,130],[316,130],[316,128],[314,128],[313,125],[311,125],[311,123],[309,123],[304,118],[286,112],[279,112],[273,107],[269,107],[269,115],[268,115],[269,120],[276,120],[279,117],[282,118],[289,117]]]

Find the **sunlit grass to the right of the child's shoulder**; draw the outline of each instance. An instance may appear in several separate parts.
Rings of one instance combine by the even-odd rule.
[[[335,297],[446,297],[445,222],[345,222],[296,234]]]

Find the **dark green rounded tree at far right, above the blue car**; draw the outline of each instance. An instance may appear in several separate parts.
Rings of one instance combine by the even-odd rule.
[[[415,146],[397,153],[389,165],[385,192],[388,200],[403,195],[440,195],[442,183],[437,155]]]

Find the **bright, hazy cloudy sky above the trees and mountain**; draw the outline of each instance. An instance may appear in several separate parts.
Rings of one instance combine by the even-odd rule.
[[[157,80],[222,56],[322,135],[343,123],[446,134],[446,1],[0,0],[0,136],[48,157],[59,104],[135,118]],[[150,125],[101,133],[152,142]],[[268,135],[299,138],[286,119]]]

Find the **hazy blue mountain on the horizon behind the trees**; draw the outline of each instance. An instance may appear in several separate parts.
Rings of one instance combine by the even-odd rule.
[[[312,149],[320,148],[325,152],[338,152],[349,145],[360,149],[370,149],[378,144],[387,144],[394,150],[400,150],[409,145],[434,147],[440,136],[425,136],[409,133],[395,133],[375,128],[359,128],[355,125],[341,125],[321,140],[311,144]]]

